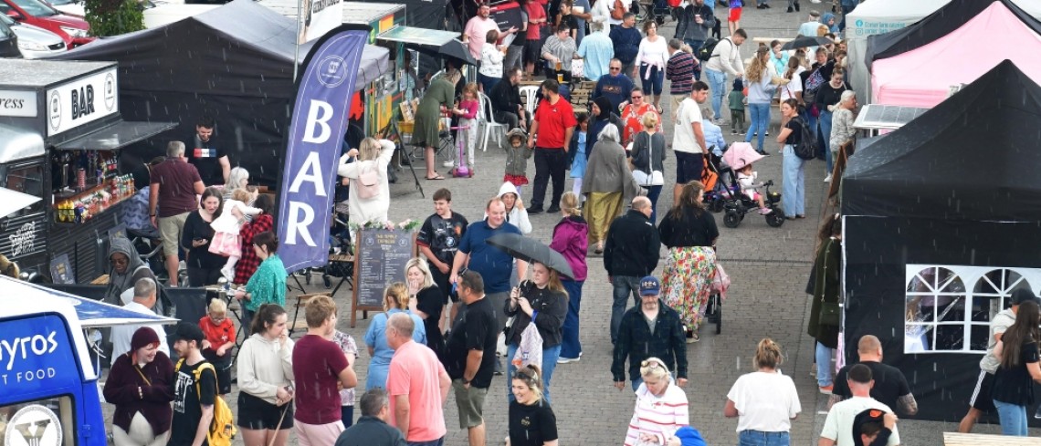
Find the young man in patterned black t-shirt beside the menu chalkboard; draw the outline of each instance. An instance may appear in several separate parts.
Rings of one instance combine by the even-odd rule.
[[[452,272],[452,260],[459,251],[459,240],[466,232],[466,217],[452,211],[452,192],[449,189],[437,189],[434,192],[434,214],[427,217],[415,237],[420,253],[430,264],[430,274],[437,288],[445,294],[445,304],[458,300],[452,295],[449,274]],[[453,308],[454,310],[454,308]],[[455,320],[455,315],[449,320]]]

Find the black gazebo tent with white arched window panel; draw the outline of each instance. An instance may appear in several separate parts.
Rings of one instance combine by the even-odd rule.
[[[1038,168],[1041,86],[1008,60],[849,159],[845,358],[878,336],[918,418],[964,415],[990,318],[1041,290]]]

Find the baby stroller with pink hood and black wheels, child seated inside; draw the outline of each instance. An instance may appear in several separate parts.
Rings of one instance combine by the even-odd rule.
[[[744,219],[744,215],[752,210],[759,209],[759,203],[744,193],[741,189],[740,183],[737,181],[736,173],[747,165],[763,158],[762,155],[756,153],[752,149],[752,145],[747,142],[735,142],[731,146],[730,150],[722,156],[722,161],[731,166],[731,174],[734,177],[734,182],[737,183],[737,190],[733,191],[723,203],[723,209],[726,213],[723,214],[722,224],[727,228],[737,228],[741,225],[741,220]],[[770,186],[773,185],[773,181],[767,181],[763,184],[766,188],[766,193],[763,195],[763,204],[768,209],[768,212],[764,216],[766,218],[766,225],[771,228],[780,228],[784,225],[785,216],[784,212],[781,210],[779,203],[781,203],[781,193],[771,192]]]

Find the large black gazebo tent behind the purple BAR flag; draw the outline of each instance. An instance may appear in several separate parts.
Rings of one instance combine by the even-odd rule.
[[[217,121],[217,137],[231,164],[246,167],[251,181],[273,185],[285,151],[282,132],[297,95],[295,41],[291,19],[252,0],[235,0],[53,58],[119,61],[123,116],[180,123],[150,145],[125,150],[125,156],[161,155],[167,140],[186,141],[197,120],[209,114]],[[310,45],[300,47],[299,60]],[[355,87],[360,89],[384,73],[387,60],[386,49],[366,46]]]

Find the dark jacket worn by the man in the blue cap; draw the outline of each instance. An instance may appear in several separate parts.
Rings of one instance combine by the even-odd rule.
[[[618,340],[614,343],[614,359],[611,361],[614,382],[626,381],[627,358],[631,381],[640,377],[640,362],[652,357],[662,360],[676,378],[686,378],[687,344],[680,314],[658,299],[658,318],[652,334],[640,308],[633,307],[621,316]]]

